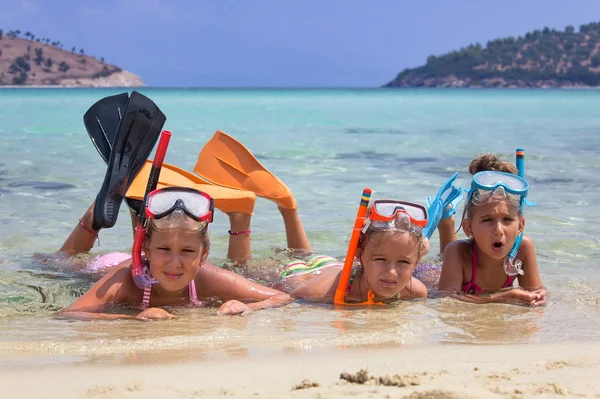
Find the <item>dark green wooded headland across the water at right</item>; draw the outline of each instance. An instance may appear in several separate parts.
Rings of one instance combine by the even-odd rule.
[[[544,28],[427,58],[383,87],[598,87],[600,23]]]

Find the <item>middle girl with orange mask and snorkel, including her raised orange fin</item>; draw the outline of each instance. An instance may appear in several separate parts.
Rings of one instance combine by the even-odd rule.
[[[289,213],[290,208],[295,211],[296,207],[292,193],[245,146],[217,132],[202,149],[200,160],[203,162],[196,165],[195,172],[203,179],[228,188],[249,190],[276,202],[284,217],[288,248],[310,252],[298,214]],[[274,286],[293,298],[319,302],[333,302],[340,286],[346,294],[342,297],[349,302],[427,297],[425,286],[411,277],[428,250],[428,241],[422,234],[427,225],[427,210],[411,202],[377,200],[366,215],[368,203],[369,198],[361,203],[365,215],[357,218],[360,226],[355,226],[355,239],[350,244],[346,264],[329,256],[310,255],[285,265],[280,271],[280,281]]]

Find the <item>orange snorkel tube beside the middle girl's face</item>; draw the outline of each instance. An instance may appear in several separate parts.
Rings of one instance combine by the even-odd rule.
[[[350,236],[350,244],[348,245],[348,252],[346,253],[346,259],[344,260],[344,268],[342,269],[342,275],[340,282],[335,290],[335,296],[333,297],[333,303],[335,305],[380,305],[381,302],[375,302],[373,298],[375,294],[369,291],[367,302],[362,303],[346,303],[346,287],[350,280],[350,274],[352,272],[352,264],[354,263],[354,256],[356,255],[356,248],[358,246],[358,239],[362,232],[363,226],[365,225],[365,218],[367,215],[367,209],[369,208],[369,201],[371,200],[371,189],[365,188],[360,198],[360,204],[358,205],[358,213],[354,220],[354,229],[352,229],[352,235]]]

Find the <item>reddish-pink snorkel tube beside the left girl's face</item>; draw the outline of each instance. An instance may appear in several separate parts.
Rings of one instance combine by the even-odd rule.
[[[163,161],[165,160],[170,139],[171,132],[168,130],[163,130],[160,135],[154,160],[152,161],[152,169],[150,169],[148,185],[146,186],[146,193],[144,194],[144,202],[142,203],[142,209],[138,215],[138,224],[135,227],[135,237],[133,239],[133,247],[131,249],[131,260],[133,263],[131,276],[133,277],[135,285],[143,290],[150,288],[152,284],[157,282],[150,274],[150,271],[144,267],[142,262],[142,245],[144,244],[144,238],[146,237],[146,197],[150,192],[156,190],[156,186],[158,185],[158,177],[160,176],[160,169],[162,168]]]

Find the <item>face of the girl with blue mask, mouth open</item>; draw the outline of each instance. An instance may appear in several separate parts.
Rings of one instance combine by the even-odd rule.
[[[504,259],[523,231],[525,219],[504,199],[491,198],[472,209],[471,217],[463,220],[463,230],[488,258]]]

